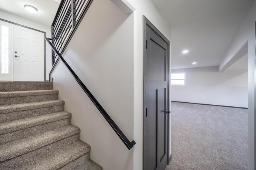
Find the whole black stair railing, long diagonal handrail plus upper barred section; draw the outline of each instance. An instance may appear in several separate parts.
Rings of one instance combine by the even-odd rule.
[[[52,38],[46,38],[46,42],[52,48],[52,69],[49,73],[49,80],[51,74],[58,63],[61,60],[68,70],[71,72],[72,76],[75,78],[76,82],[88,95],[93,104],[97,107],[103,117],[106,119],[108,124],[116,132],[118,137],[123,141],[124,145],[130,150],[136,144],[134,141],[129,141],[124,135],[121,129],[116,125],[113,119],[108,115],[105,109],[100,105],[92,93],[86,88],[81,79],[76,75],[74,70],[68,65],[68,63],[62,57],[64,50],[66,49],[71,37],[74,35],[76,28],[81,22],[84,14],[88,10],[92,0],[62,0],[58,8],[57,14],[52,23]],[[51,42],[51,41],[52,42]]]

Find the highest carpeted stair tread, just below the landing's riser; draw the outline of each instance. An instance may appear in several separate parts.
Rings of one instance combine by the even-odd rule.
[[[13,98],[22,96],[40,96],[47,94],[58,94],[58,90],[31,90],[31,91],[17,91],[17,92],[0,92],[0,98]]]

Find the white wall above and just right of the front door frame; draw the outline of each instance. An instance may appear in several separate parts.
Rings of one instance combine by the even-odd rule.
[[[20,25],[38,29],[40,31],[44,31],[46,32],[46,37],[51,37],[50,26],[42,25],[41,23],[27,20],[26,18],[22,18],[1,10],[0,10],[0,18],[7,21],[12,21],[14,23],[18,23]],[[49,80],[49,72],[51,68],[52,68],[52,53],[51,53],[50,46],[46,43],[46,80]]]

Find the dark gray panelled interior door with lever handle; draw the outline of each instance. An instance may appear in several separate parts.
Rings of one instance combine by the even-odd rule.
[[[168,164],[168,43],[147,25],[144,58],[144,169],[164,170]]]

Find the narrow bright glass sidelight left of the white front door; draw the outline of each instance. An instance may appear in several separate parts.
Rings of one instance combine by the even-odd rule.
[[[12,24],[0,21],[0,81],[12,80]]]

